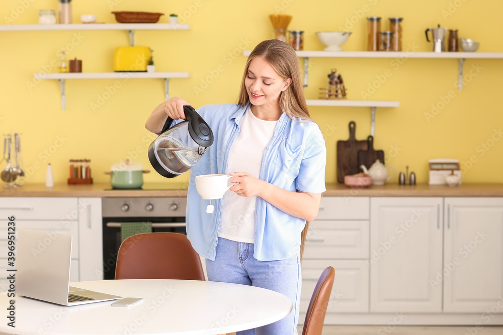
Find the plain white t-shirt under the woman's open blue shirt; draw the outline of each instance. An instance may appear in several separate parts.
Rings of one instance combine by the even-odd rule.
[[[229,154],[227,173],[246,172],[259,178],[262,156],[278,121],[265,121],[251,113],[248,105],[239,123],[241,132]],[[240,196],[227,191],[222,198],[219,237],[246,243],[255,242],[256,196]]]

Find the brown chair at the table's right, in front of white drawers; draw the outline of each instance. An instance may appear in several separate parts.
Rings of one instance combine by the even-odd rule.
[[[331,266],[321,273],[307,308],[302,335],[321,335],[335,276],[336,270]]]

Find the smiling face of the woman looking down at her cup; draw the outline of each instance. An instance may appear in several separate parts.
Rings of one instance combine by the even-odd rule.
[[[244,78],[244,86],[251,104],[263,110],[277,111],[280,94],[291,83],[291,78],[284,80],[262,57],[251,60]]]

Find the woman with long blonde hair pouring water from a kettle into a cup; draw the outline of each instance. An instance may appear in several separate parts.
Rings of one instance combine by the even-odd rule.
[[[215,139],[191,169],[187,236],[206,258],[209,280],[259,286],[292,300],[287,317],[238,335],[297,334],[300,254],[306,221],[316,217],[325,191],[326,149],[309,117],[293,48],[279,40],[260,43],[246,62],[238,100],[198,109]],[[179,97],[161,103],[145,127],[159,133],[168,116],[185,119],[187,104]],[[215,173],[230,174],[237,184],[208,214],[209,200],[197,194],[194,177]]]

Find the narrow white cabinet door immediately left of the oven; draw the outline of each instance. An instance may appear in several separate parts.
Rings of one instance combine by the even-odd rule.
[[[101,198],[78,198],[80,281],[103,279]]]

